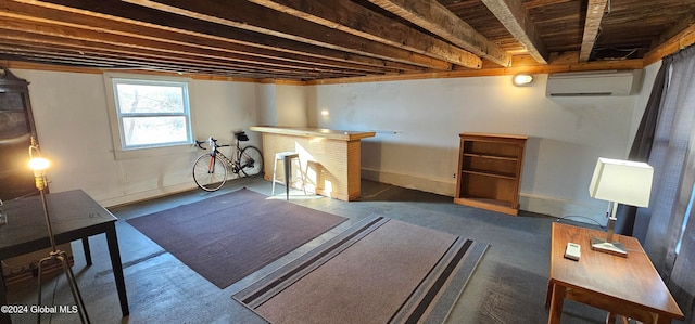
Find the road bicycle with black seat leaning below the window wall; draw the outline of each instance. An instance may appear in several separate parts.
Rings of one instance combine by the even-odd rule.
[[[230,145],[218,145],[217,140],[210,137],[207,141],[195,141],[195,145],[201,150],[210,150],[199,156],[193,164],[193,180],[200,189],[208,192],[219,190],[229,178],[229,170],[237,174],[237,178],[255,177],[263,171],[263,154],[255,146],[241,147],[239,142],[249,141],[249,137],[244,131],[235,132],[237,140],[236,155],[233,159],[229,159],[219,147]],[[210,148],[203,147],[203,143],[207,142]]]

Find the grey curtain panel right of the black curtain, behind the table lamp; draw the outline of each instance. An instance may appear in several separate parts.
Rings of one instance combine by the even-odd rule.
[[[648,159],[654,167],[653,195],[649,207],[637,209],[636,217],[637,222],[648,219],[644,247],[667,281],[693,192],[694,174],[690,170],[694,158],[691,145],[695,127],[695,47],[673,54],[668,67]]]

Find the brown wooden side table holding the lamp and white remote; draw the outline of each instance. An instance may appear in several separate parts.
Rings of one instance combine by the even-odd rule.
[[[592,250],[591,237],[605,235],[602,231],[553,223],[547,322],[560,322],[565,299],[608,311],[608,322],[615,322],[617,314],[643,323],[684,319],[640,242],[614,236],[626,245],[627,258]],[[569,242],[581,245],[579,261],[564,258]]]

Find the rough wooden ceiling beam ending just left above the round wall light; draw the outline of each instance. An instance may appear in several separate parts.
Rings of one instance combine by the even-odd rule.
[[[502,66],[509,66],[511,56],[488,40],[456,14],[434,0],[368,0],[382,9],[418,25],[471,53]]]

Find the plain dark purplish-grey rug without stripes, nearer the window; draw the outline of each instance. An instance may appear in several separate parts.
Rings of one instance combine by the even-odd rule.
[[[127,222],[225,288],[345,220],[241,189]]]

